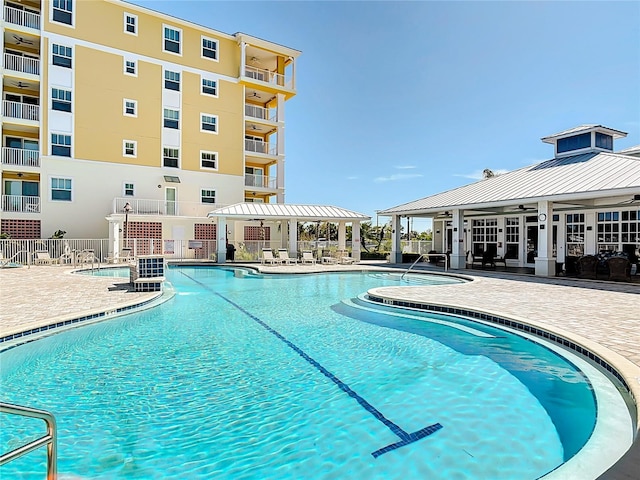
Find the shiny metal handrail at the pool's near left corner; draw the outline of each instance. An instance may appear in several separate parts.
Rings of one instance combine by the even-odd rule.
[[[21,405],[14,405],[4,402],[0,402],[0,413],[20,415],[21,417],[38,418],[40,420],[44,420],[44,422],[47,424],[46,435],[0,456],[0,466],[46,445],[47,480],[55,480],[58,471],[58,458],[56,448],[56,419],[53,414],[45,410],[36,410],[35,408],[23,407]]]

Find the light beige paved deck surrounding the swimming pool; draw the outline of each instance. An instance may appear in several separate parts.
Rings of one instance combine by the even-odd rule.
[[[228,264],[242,266],[245,264]],[[264,273],[312,273],[351,270],[404,272],[409,265],[265,266]],[[127,278],[72,274],[65,266],[0,269],[0,337],[93,312],[142,303],[155,293],[134,293]],[[441,273],[416,266],[412,272]],[[374,289],[376,295],[427,305],[454,306],[507,317],[571,338],[604,358],[621,373],[640,399],[640,285],[571,278],[543,278],[494,271],[457,270],[473,281],[440,286]],[[364,293],[364,292],[363,292]],[[601,478],[638,478],[640,444]]]

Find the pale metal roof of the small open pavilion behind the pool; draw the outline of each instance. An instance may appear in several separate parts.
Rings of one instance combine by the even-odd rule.
[[[285,220],[296,218],[302,221],[367,221],[371,217],[331,205],[296,205],[286,203],[236,203],[212,210],[208,217],[228,217],[246,220]]]

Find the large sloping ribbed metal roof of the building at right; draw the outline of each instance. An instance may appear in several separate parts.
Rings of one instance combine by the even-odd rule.
[[[450,208],[517,205],[525,201],[597,198],[640,193],[640,158],[585,153],[553,158],[470,185],[380,210],[379,215],[433,213]]]

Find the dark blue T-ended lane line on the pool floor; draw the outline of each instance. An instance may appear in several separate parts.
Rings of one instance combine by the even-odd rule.
[[[397,448],[403,447],[405,445],[409,445],[410,443],[416,442],[424,437],[431,435],[432,433],[437,432],[442,428],[442,425],[440,425],[440,423],[434,423],[433,425],[429,425],[428,427],[425,427],[421,430],[417,430],[413,433],[405,432],[402,428],[400,428],[398,425],[396,425],[387,417],[385,417],[377,408],[375,408],[373,405],[367,402],[364,398],[362,398],[360,395],[354,392],[346,383],[344,383],[342,380],[336,377],[333,373],[331,373],[329,370],[323,367],[320,363],[318,363],[315,359],[309,356],[304,350],[302,350],[293,342],[287,340],[287,338],[284,335],[282,335],[280,332],[270,327],[263,320],[260,320],[258,317],[253,315],[251,312],[247,311],[241,305],[238,305],[237,303],[235,303],[233,300],[225,297],[221,293],[214,291],[208,285],[196,280],[190,275],[187,275],[183,271],[180,271],[180,273],[182,273],[182,275],[191,279],[193,282],[197,283],[198,285],[202,286],[206,290],[209,290],[214,295],[217,295],[218,297],[222,298],[225,302],[229,303],[230,305],[234,306],[236,309],[240,310],[242,313],[244,313],[246,316],[251,318],[256,323],[258,323],[261,327],[263,327],[269,333],[271,333],[276,338],[284,342],[289,348],[291,348],[298,355],[304,358],[307,362],[313,365],[317,370],[320,371],[320,373],[322,373],[325,377],[327,377],[329,380],[335,383],[338,386],[338,388],[340,388],[340,390],[342,390],[351,398],[353,398],[356,402],[360,404],[360,406],[362,406],[362,408],[364,408],[367,412],[369,412],[371,415],[377,418],[380,422],[386,425],[389,428],[389,430],[391,430],[395,435],[397,435],[400,438],[399,442],[392,443],[390,445],[387,445],[386,447],[376,450],[375,452],[372,452],[371,455],[373,455],[374,458],[378,458],[383,453],[387,453]]]

